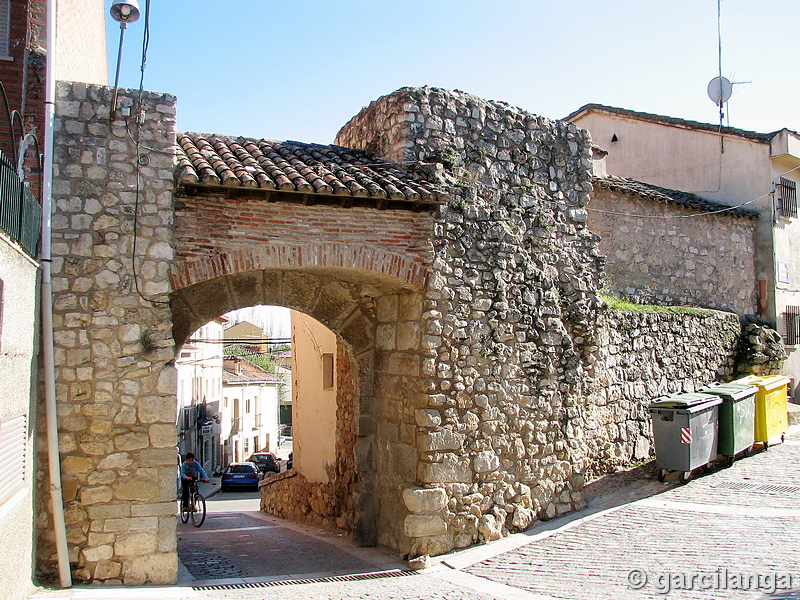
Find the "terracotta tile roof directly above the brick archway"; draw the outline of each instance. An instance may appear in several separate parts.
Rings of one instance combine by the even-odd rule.
[[[398,165],[342,146],[202,133],[178,134],[178,146],[176,178],[190,193],[214,189],[230,196],[260,193],[273,200],[379,208],[448,200],[443,190]]]

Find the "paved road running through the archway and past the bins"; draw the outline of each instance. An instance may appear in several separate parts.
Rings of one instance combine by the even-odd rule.
[[[400,565],[391,555],[260,515],[249,497],[255,494],[218,494],[207,525],[180,528],[187,563],[200,544],[227,545],[216,567],[191,565],[197,575],[184,571],[183,585],[169,588],[40,591],[33,598],[798,600],[800,439],[793,433],[783,445],[686,486],[623,475],[622,487],[596,486],[605,493],[585,511],[437,557],[416,574],[392,570]],[[236,579],[187,585],[215,568],[232,574],[223,559],[240,569]],[[265,563],[272,575],[265,575]],[[306,581],[287,581],[292,574]],[[780,589],[786,586],[796,589]]]

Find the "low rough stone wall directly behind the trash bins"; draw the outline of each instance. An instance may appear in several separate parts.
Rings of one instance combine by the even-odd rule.
[[[591,478],[652,456],[651,400],[733,378],[741,326],[725,312],[608,309],[597,332],[595,385],[584,409]]]

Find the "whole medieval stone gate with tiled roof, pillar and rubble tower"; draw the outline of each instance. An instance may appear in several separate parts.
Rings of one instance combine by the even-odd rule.
[[[403,89],[340,132],[362,152],[176,135],[173,97],[123,93],[131,116],[114,118],[110,98],[58,90],[54,322],[76,578],[175,581],[172,361],[236,308],[294,308],[339,337],[354,377],[323,493],[360,543],[439,554],[497,539],[580,506],[595,446],[633,446],[614,437],[627,413],[603,412],[612,394],[597,414],[617,433],[588,406],[602,259],[585,227],[585,132]],[[730,358],[738,323],[718,321],[724,340],[693,373]],[[589,429],[605,446],[587,446]]]

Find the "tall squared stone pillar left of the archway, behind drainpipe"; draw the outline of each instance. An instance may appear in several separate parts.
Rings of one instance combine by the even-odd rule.
[[[133,114],[113,120],[111,94],[60,83],[56,103],[53,318],[69,558],[77,581],[172,583],[175,98],[145,93],[138,126],[138,92],[120,91]],[[41,439],[38,567],[48,577],[56,559],[44,450]]]

